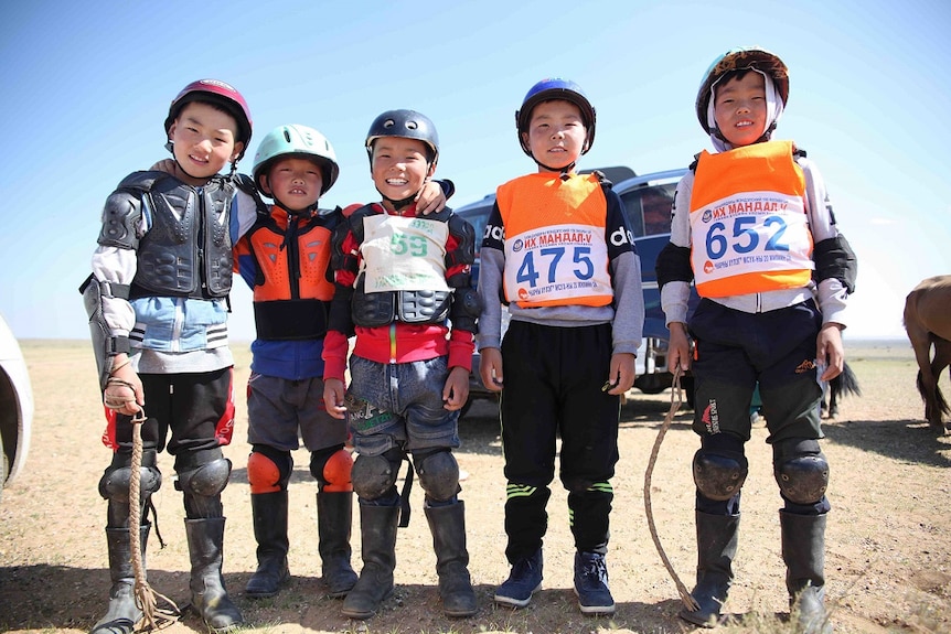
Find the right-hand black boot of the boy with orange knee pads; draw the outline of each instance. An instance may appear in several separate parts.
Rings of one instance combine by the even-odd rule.
[[[353,493],[321,491],[317,494],[317,534],[320,538],[321,572],[327,593],[346,597],[356,583],[350,565],[350,527],[353,524]]]

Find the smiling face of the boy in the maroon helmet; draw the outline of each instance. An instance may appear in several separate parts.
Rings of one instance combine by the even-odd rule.
[[[177,174],[191,185],[203,185],[235,161],[244,143],[235,141],[237,123],[223,110],[192,101],[182,108],[169,128],[175,161],[184,174]]]

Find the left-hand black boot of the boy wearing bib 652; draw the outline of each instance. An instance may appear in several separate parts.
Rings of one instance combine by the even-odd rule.
[[[678,615],[694,625],[715,627],[733,583],[739,515],[709,515],[697,511],[696,524],[697,584],[691,597],[699,609],[690,611],[684,608]]]

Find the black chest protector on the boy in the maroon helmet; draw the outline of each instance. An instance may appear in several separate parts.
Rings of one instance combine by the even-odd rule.
[[[131,213],[148,213],[152,221],[149,232],[138,240],[127,233],[122,244],[115,243],[137,248],[138,268],[130,298],[159,293],[210,299],[228,294],[233,262],[229,217],[235,195],[228,181],[214,178],[196,190],[162,172],[137,172],[119,184],[110,203],[122,193],[125,205],[107,204],[107,216],[115,217],[104,218],[104,234],[109,225],[128,227]],[[129,198],[140,200],[141,208]],[[99,244],[110,243],[99,237]]]

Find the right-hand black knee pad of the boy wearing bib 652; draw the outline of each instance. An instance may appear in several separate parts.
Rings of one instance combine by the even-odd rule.
[[[782,495],[795,504],[820,502],[829,487],[829,463],[819,441],[795,438],[773,445],[773,475]]]

